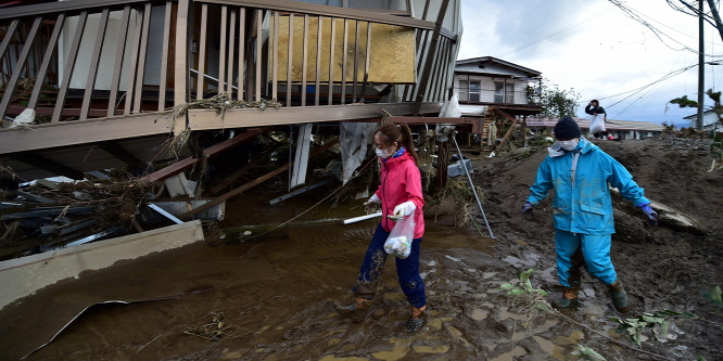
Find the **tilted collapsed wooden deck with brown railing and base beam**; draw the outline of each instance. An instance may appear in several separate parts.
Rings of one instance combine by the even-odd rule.
[[[22,181],[163,159],[188,132],[436,116],[461,22],[458,0],[72,0],[0,28],[0,177]],[[234,106],[193,107],[219,94]]]

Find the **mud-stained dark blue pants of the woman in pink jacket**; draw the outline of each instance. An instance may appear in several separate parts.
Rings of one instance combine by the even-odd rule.
[[[377,227],[375,236],[369,243],[369,248],[362,262],[359,276],[353,292],[356,297],[372,299],[377,293],[377,287],[381,281],[381,273],[386,262],[386,252],[384,252],[384,242],[389,232],[384,231],[381,223]],[[396,260],[396,276],[402,286],[402,292],[407,296],[409,304],[416,308],[427,305],[427,294],[424,292],[424,281],[419,275],[419,252],[421,249],[422,238],[411,241],[411,252],[409,257]]]

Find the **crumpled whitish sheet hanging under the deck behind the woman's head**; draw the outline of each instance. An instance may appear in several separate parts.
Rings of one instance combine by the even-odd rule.
[[[339,127],[344,184],[367,155],[367,144],[371,143],[376,128],[373,123],[342,123]]]

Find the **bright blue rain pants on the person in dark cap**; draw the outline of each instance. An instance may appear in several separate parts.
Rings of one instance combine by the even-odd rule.
[[[583,265],[580,250],[587,272],[607,285],[614,283],[618,275],[610,260],[610,234],[582,234],[556,229],[555,250],[560,284],[566,287],[570,287],[571,283],[579,285],[580,267]]]

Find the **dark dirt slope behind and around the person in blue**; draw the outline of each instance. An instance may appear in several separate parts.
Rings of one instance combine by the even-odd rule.
[[[671,357],[708,360],[723,359],[716,343],[723,339],[723,319],[701,292],[723,284],[723,171],[720,159],[712,166],[710,142],[692,139],[649,139],[639,141],[596,141],[601,150],[618,159],[645,189],[660,214],[660,225],[649,227],[639,209],[613,194],[616,230],[612,261],[631,296],[626,317],[662,309],[689,311],[705,321],[680,321],[687,336],[663,345],[660,352]],[[483,206],[498,240],[497,258],[529,259],[542,255],[535,268],[555,266],[554,229],[550,204],[553,196],[536,207],[534,218],[525,221],[520,209],[534,182],[537,166],[547,155],[546,147],[518,149],[494,158],[474,162],[473,180],[484,191]],[[709,171],[711,170],[712,171]],[[482,218],[478,217],[482,222]],[[535,256],[536,257],[536,256]],[[528,265],[519,265],[520,271]],[[557,274],[536,280],[541,286],[559,296]],[[583,302],[610,304],[607,289],[584,273],[585,287],[597,297],[582,295]],[[611,305],[607,305],[612,314]],[[581,312],[580,321],[595,322]],[[616,315],[617,317],[617,315]],[[609,328],[609,327],[608,327]],[[677,347],[677,351],[673,349]],[[683,351],[681,351],[683,350]],[[675,353],[677,352],[677,353]]]

